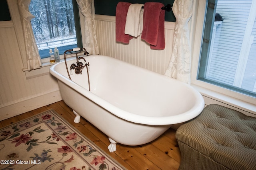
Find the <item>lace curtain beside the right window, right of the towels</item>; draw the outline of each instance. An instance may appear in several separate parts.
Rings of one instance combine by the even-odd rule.
[[[176,17],[172,55],[165,75],[187,84],[190,80],[191,49],[188,21],[192,16],[193,0],[175,0],[172,11]]]

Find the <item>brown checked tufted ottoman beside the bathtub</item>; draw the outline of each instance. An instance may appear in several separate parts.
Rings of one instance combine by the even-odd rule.
[[[176,131],[180,170],[256,170],[256,118],[211,104]]]

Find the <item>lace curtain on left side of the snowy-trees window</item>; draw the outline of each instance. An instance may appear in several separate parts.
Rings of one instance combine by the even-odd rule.
[[[22,30],[25,41],[28,70],[40,68],[41,58],[36,45],[36,40],[31,26],[31,19],[34,16],[29,12],[28,7],[31,0],[18,0],[18,8],[21,16]]]

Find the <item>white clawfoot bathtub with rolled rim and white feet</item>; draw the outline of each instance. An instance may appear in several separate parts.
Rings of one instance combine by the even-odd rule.
[[[110,152],[116,143],[142,145],[164,133],[172,124],[188,121],[204,108],[201,94],[192,86],[112,57],[85,57],[90,64],[90,90],[86,68],[68,78],[64,62],[50,73],[58,79],[64,102],[108,135]],[[67,59],[68,68],[76,63]]]

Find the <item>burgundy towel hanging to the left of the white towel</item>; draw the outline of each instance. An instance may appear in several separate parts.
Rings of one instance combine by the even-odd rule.
[[[131,3],[118,2],[116,6],[116,41],[121,43],[129,43],[132,37],[124,34],[126,16]]]

